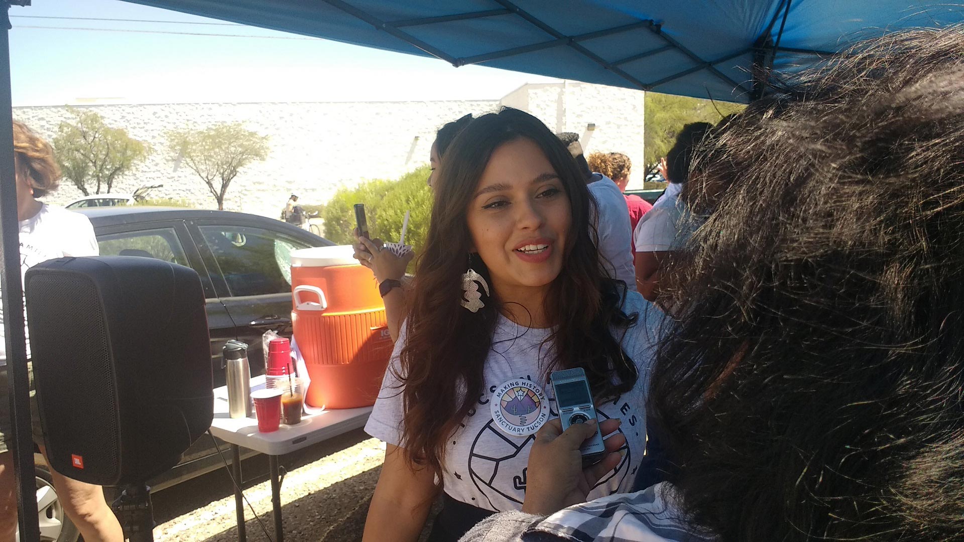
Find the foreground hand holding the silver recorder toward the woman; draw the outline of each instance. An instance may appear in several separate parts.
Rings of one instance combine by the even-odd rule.
[[[607,435],[618,429],[621,422],[604,420],[600,430]],[[559,419],[543,425],[529,451],[523,512],[548,516],[585,502],[596,482],[619,465],[622,456],[617,450],[626,446],[622,433],[605,439],[603,460],[583,470],[579,447],[595,432],[596,420],[570,425],[565,432]]]

